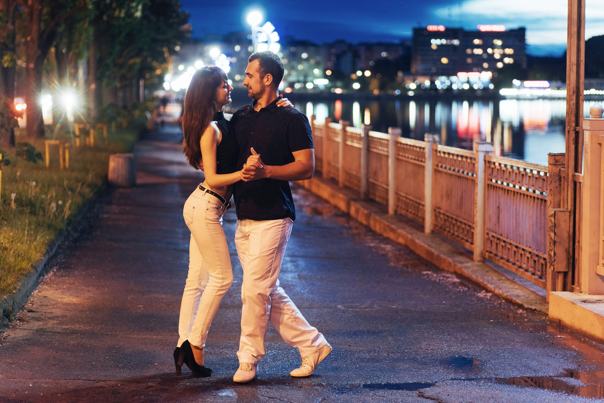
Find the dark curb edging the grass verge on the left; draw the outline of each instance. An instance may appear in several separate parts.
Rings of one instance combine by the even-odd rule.
[[[103,182],[101,186],[97,189],[97,191],[92,195],[91,198],[86,200],[80,209],[76,219],[72,221],[71,225],[68,225],[63,229],[62,232],[57,235],[57,237],[48,245],[46,253],[36,265],[34,265],[31,273],[25,276],[17,286],[17,288],[11,294],[7,294],[2,299],[0,299],[0,313],[2,314],[1,322],[0,322],[0,330],[3,329],[7,324],[11,317],[16,316],[16,314],[21,311],[27,300],[31,296],[36,287],[38,286],[40,279],[46,274],[48,270],[47,263],[54,256],[59,249],[60,244],[62,244],[65,240],[69,239],[69,232],[71,232],[74,227],[78,226],[78,223],[82,220],[83,217],[88,215],[94,206],[97,204],[98,198],[104,194],[107,190],[107,182]]]

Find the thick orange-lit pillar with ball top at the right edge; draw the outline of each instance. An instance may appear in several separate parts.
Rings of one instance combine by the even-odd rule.
[[[591,115],[601,116],[599,109],[590,109]],[[604,294],[604,119],[583,119],[583,136],[580,287],[585,294]]]

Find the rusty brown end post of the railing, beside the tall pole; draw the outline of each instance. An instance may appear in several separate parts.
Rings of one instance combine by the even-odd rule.
[[[564,180],[564,153],[547,154],[547,300],[551,291],[565,291],[565,273],[570,267],[569,242],[570,210],[562,209],[562,182]]]

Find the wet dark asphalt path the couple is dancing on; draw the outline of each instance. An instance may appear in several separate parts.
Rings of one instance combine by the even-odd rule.
[[[604,346],[438,270],[294,188],[280,281],[334,347],[309,378],[270,328],[258,379],[236,385],[241,266],[206,346],[211,378],[174,372],[188,267],[182,205],[201,180],[176,125],[137,146],[138,185],[115,189],[0,335],[0,402],[603,401]]]

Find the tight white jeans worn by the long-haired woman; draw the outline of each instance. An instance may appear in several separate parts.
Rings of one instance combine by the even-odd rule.
[[[231,258],[222,229],[226,206],[196,188],[185,202],[182,215],[191,231],[189,270],[182,293],[178,344],[188,340],[204,347],[222,296],[233,282]]]

